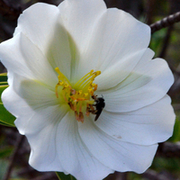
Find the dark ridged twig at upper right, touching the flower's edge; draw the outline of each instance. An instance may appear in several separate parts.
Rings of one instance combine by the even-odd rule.
[[[171,26],[174,23],[179,22],[179,21],[180,21],[180,11],[175,13],[175,14],[172,14],[170,16],[167,16],[167,17],[163,18],[160,21],[157,21],[154,24],[151,24],[150,25],[151,34],[153,34],[154,32],[156,32],[156,31],[158,31],[158,30],[160,30],[162,28]]]

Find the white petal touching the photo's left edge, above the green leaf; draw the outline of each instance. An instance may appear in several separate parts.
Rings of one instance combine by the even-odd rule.
[[[58,82],[55,70],[40,49],[21,33],[0,44],[0,58],[8,71],[15,74],[39,80],[53,88]]]

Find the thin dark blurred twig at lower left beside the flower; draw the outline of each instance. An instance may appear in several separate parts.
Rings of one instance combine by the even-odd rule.
[[[10,178],[11,172],[12,172],[12,168],[13,168],[13,164],[14,164],[14,160],[16,158],[16,155],[18,153],[18,149],[20,148],[23,140],[24,140],[24,136],[19,135],[19,137],[17,139],[17,142],[16,142],[16,147],[15,147],[14,152],[13,152],[11,158],[10,158],[10,163],[9,163],[9,166],[7,168],[7,172],[6,172],[3,180],[8,180]]]

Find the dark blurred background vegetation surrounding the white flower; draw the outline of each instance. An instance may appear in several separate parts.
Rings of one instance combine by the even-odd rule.
[[[44,0],[58,5],[62,0]],[[17,18],[37,0],[0,0],[0,42],[12,37]],[[151,25],[180,11],[180,0],[106,0],[108,7],[123,9],[140,21]],[[177,18],[179,21],[180,18]],[[169,21],[172,22],[172,21]],[[155,56],[165,58],[172,69],[175,83],[169,91],[177,115],[174,134],[168,142],[159,145],[152,166],[145,173],[114,173],[106,180],[178,180],[180,179],[180,23],[165,23],[166,28],[152,32],[150,47]],[[161,23],[162,25],[162,23]],[[154,31],[154,27],[151,26]],[[156,28],[155,28],[156,29]],[[6,69],[0,65],[0,72]],[[0,76],[2,80],[4,76]],[[6,79],[4,79],[5,81]],[[1,93],[1,92],[0,92]],[[1,102],[0,102],[0,105]],[[3,116],[0,112],[0,118]],[[9,121],[13,121],[13,117]],[[40,173],[28,165],[30,148],[17,129],[0,125],[0,179],[2,180],[57,180],[53,172]]]

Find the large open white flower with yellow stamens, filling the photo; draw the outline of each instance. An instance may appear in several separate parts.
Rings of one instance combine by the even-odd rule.
[[[30,143],[32,167],[99,180],[151,165],[175,115],[166,95],[173,75],[152,60],[149,41],[147,25],[102,0],[23,12],[0,45],[9,83],[2,99]],[[104,109],[93,98],[103,98]]]

